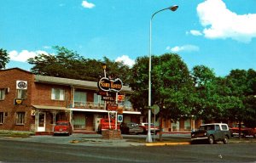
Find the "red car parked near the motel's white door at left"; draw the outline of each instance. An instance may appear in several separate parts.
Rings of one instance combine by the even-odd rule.
[[[69,121],[57,121],[54,128],[54,135],[66,134],[72,135],[73,128]]]

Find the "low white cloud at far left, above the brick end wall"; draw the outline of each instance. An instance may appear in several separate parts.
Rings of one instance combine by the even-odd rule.
[[[18,53],[16,50],[13,50],[13,51],[9,52],[9,58],[10,58],[10,60],[15,60],[18,62],[26,62],[27,59],[34,58],[35,56],[37,56],[38,54],[41,54],[41,53],[47,54],[47,52],[42,51],[42,50],[38,50],[35,52],[29,52],[27,50],[22,50],[20,53]]]

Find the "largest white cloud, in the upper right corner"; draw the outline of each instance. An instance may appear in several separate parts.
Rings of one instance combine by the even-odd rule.
[[[207,0],[197,6],[202,31],[207,38],[232,38],[250,42],[256,37],[256,14],[236,14],[221,0]]]

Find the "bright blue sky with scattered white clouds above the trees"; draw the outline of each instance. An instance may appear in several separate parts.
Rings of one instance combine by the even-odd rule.
[[[189,70],[206,65],[217,76],[256,70],[255,0],[2,0],[0,48],[8,68],[29,70],[26,59],[56,45],[132,65],[149,53],[151,15],[175,4],[152,21],[155,55],[178,53]]]

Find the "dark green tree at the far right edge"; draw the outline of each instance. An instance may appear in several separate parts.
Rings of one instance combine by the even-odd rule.
[[[228,80],[230,87],[230,97],[236,99],[236,107],[228,108],[227,116],[230,120],[238,121],[239,137],[241,136],[241,122],[247,126],[256,126],[255,108],[255,86],[256,72],[250,70],[231,70]],[[234,105],[234,104],[233,104]]]

